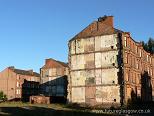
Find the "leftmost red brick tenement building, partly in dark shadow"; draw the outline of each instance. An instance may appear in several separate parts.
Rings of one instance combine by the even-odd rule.
[[[0,72],[0,91],[8,100],[29,101],[31,95],[39,93],[40,74],[33,70],[8,67]]]

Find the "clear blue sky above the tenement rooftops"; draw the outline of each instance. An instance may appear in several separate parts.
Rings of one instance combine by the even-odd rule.
[[[46,58],[67,62],[68,40],[98,17],[136,41],[154,37],[153,0],[0,0],[0,71],[34,69]]]

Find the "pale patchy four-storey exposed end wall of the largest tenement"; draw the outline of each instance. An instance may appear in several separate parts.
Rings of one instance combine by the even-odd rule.
[[[117,35],[113,34],[69,43],[70,102],[120,103],[118,41]]]

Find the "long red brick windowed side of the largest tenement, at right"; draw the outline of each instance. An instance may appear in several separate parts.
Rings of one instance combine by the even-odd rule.
[[[154,100],[154,56],[146,52],[130,33],[122,35],[125,99]],[[135,96],[133,96],[133,94]]]

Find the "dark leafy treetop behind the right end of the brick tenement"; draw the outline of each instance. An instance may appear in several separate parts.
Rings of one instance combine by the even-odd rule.
[[[154,39],[153,38],[150,37],[147,43],[144,43],[144,41],[142,41],[142,46],[145,51],[151,54],[154,54]]]

